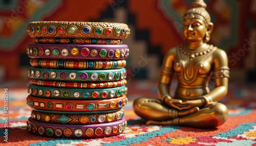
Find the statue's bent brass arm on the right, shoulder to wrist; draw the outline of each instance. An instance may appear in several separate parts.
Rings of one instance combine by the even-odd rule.
[[[228,90],[229,68],[227,54],[218,48],[213,55],[214,60],[212,63],[214,72],[212,78],[214,79],[215,88],[202,96],[206,104],[221,100],[227,94]]]

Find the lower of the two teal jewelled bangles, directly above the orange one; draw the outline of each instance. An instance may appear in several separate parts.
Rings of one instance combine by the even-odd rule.
[[[28,92],[38,98],[58,100],[98,100],[110,99],[127,93],[127,87],[79,89],[79,88],[53,88],[29,85]]]

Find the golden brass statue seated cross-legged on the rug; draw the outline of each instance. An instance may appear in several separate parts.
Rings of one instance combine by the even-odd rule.
[[[147,125],[179,125],[214,128],[227,119],[227,107],[218,103],[228,89],[228,58],[216,46],[207,44],[214,28],[203,0],[195,0],[183,17],[183,34],[187,43],[170,48],[160,72],[158,93],[161,100],[139,98],[133,108],[147,119]],[[178,86],[173,98],[169,87],[174,74]],[[212,76],[214,89],[208,88]]]

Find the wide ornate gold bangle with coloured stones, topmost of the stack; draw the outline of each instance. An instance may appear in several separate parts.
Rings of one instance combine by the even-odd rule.
[[[124,23],[37,21],[27,27],[30,37],[125,39],[130,29]]]

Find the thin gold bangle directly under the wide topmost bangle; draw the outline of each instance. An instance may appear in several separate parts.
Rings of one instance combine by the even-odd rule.
[[[55,44],[122,44],[120,39],[90,39],[90,38],[34,38],[35,43]]]

